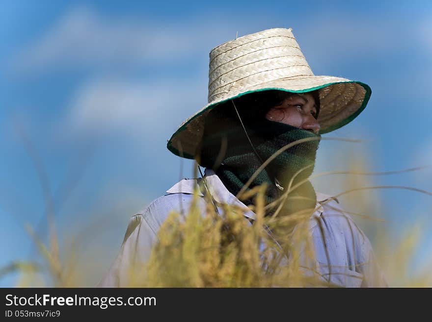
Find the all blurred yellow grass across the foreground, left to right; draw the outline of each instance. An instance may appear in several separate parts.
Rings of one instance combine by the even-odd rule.
[[[384,214],[385,209],[376,190],[367,188],[374,187],[374,176],[371,175],[374,173],[367,171],[367,161],[357,155],[347,162],[350,166],[348,171],[314,174],[311,177],[312,182],[313,177],[320,175],[344,174],[342,182],[345,189],[339,198],[342,208],[351,214],[356,223],[360,222],[361,228],[371,239],[389,286],[431,287],[432,266],[422,271],[412,270],[412,262],[425,233],[421,224],[413,222],[404,229],[402,236],[391,235],[387,223],[382,218],[374,217],[376,214]],[[356,188],[365,189],[355,191]],[[305,274],[301,268],[302,263],[298,260],[300,251],[305,251],[306,257],[313,262],[313,247],[308,235],[310,215],[298,214],[288,219],[282,216],[276,219],[265,217],[263,189],[264,187],[255,187],[248,195],[243,196],[255,198],[252,210],[257,218],[253,225],[244,219],[244,209],[223,205],[223,213],[219,216],[210,200],[204,216],[196,202],[192,202],[189,213],[184,217],[180,213],[172,212],[158,233],[160,242],[155,245],[146,269],[139,265],[131,271],[130,286],[333,286],[323,282],[316,272]],[[75,234],[73,231],[60,232],[55,228],[54,220],[47,217],[48,242],[44,243],[42,236],[38,236],[31,226],[26,227],[38,249],[38,259],[10,263],[0,269],[0,278],[10,272],[19,272],[20,278],[16,285],[18,287],[95,286],[98,281],[89,285],[86,274],[98,261],[100,254],[83,256],[84,249],[78,245],[81,237],[59,240],[59,236],[82,236],[83,231],[90,234],[91,229],[83,227]],[[294,231],[288,228],[292,227],[293,223],[296,225]],[[270,226],[272,230],[289,231],[284,235],[285,243],[276,245],[274,240],[269,238],[264,226]],[[112,252],[116,253],[119,247],[120,245]],[[277,251],[278,247],[284,251]],[[290,260],[286,261],[286,258]],[[102,278],[108,267],[97,269]]]

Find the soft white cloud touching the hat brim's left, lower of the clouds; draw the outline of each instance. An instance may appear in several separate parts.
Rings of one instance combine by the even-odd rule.
[[[207,84],[95,79],[71,99],[66,123],[73,133],[117,131],[167,135],[205,104]]]

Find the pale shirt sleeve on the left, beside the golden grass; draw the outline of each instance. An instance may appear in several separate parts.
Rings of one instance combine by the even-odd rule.
[[[140,264],[147,262],[158,240],[146,215],[139,214],[130,219],[120,251],[98,287],[127,287],[131,285],[131,276],[140,276],[136,269],[142,269]]]

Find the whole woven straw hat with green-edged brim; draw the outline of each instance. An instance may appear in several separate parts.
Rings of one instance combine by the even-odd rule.
[[[214,48],[210,52],[209,103],[180,125],[167,148],[193,159],[208,112],[219,103],[257,91],[318,90],[319,134],[348,124],[359,115],[371,96],[370,87],[346,78],[315,76],[291,30],[267,29]]]

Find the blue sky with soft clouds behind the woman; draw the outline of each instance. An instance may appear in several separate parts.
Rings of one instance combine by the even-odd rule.
[[[315,173],[344,170],[357,155],[377,172],[432,164],[431,1],[145,2],[2,2],[0,266],[34,256],[25,222],[46,232],[25,137],[46,169],[60,229],[106,223],[83,242],[88,253],[100,251],[99,271],[89,277],[97,282],[129,217],[177,182],[182,165],[183,176],[192,175],[192,163],[181,163],[166,140],[207,103],[209,51],[237,34],[292,27],[315,74],[371,86],[364,112],[324,135],[367,142],[323,141]],[[373,183],[432,191],[431,177],[427,169]],[[328,194],[341,189],[337,178],[314,183]],[[372,197],[382,200],[395,234],[422,221],[418,262],[431,259],[432,198],[395,189]]]

